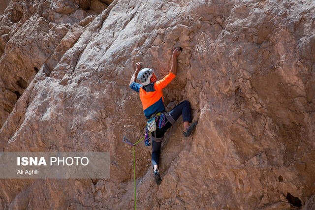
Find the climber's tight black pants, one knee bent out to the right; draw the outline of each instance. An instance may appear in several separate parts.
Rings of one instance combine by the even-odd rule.
[[[164,137],[164,133],[167,131],[168,128],[172,126],[171,121],[173,123],[178,120],[178,118],[183,115],[183,122],[189,121],[191,122],[191,111],[190,111],[190,103],[189,101],[183,101],[178,104],[172,111],[169,112],[171,118],[167,120],[166,124],[162,128],[158,128],[153,132],[153,140],[152,140],[152,164],[158,165],[159,163],[159,154],[161,152],[161,144]],[[156,139],[156,141],[155,141]],[[157,141],[158,139],[158,141]]]

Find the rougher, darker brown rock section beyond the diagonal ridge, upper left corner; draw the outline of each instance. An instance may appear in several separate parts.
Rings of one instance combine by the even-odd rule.
[[[44,62],[51,71],[95,16],[91,0],[12,0],[0,17],[0,126]],[[100,3],[101,4],[101,3]],[[94,5],[94,4],[93,4]],[[89,10],[87,10],[89,9]],[[10,73],[8,73],[10,72]]]

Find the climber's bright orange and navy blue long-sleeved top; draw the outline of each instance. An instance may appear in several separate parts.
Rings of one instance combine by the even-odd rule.
[[[135,82],[130,85],[132,90],[139,92],[143,106],[143,112],[147,119],[149,119],[152,114],[165,110],[162,90],[174,78],[175,74],[169,73],[162,80],[159,80],[155,83],[150,83],[147,86],[143,86]]]

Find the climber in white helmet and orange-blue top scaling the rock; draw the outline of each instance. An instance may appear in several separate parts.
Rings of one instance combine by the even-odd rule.
[[[178,104],[174,109],[169,113],[165,112],[164,99],[162,90],[165,88],[176,76],[177,74],[177,56],[182,52],[182,48],[173,48],[172,54],[172,66],[170,73],[166,75],[162,80],[158,80],[154,71],[151,68],[141,68],[141,62],[136,63],[136,70],[130,80],[130,88],[139,93],[144,115],[147,119],[152,119],[156,117],[157,124],[159,120],[164,118],[164,126],[161,128],[157,125],[155,131],[152,132],[152,164],[154,170],[154,178],[157,184],[161,183],[161,178],[158,170],[159,163],[159,154],[161,149],[161,143],[164,138],[164,133],[170,128],[175,121],[183,115],[184,122],[184,136],[189,137],[192,131],[195,129],[197,122],[193,122],[191,125],[191,110],[189,101],[183,101]],[[136,83],[136,78],[139,80],[139,83]],[[161,114],[162,113],[162,114]]]

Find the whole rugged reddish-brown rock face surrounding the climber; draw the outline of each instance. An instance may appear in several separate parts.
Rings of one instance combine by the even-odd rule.
[[[122,139],[142,138],[146,120],[129,80],[138,61],[165,76],[173,46],[184,50],[164,102],[189,100],[198,125],[185,138],[180,118],[168,132],[159,186],[151,148],[135,147],[138,208],[294,209],[288,193],[312,208],[314,9],[305,0],[13,0],[0,16],[0,148],[110,151],[111,178],[0,180],[0,209],[132,209]]]

